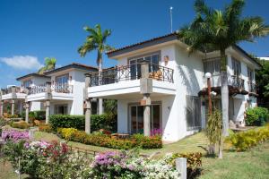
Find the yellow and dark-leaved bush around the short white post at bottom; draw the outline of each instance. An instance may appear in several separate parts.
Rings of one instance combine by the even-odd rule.
[[[169,164],[176,166],[176,158],[187,158],[187,178],[195,178],[202,171],[202,153],[175,153],[169,158]]]

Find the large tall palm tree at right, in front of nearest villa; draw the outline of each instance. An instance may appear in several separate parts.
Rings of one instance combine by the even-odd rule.
[[[241,16],[244,5],[244,0],[233,0],[220,11],[208,7],[204,0],[196,0],[195,20],[178,33],[178,38],[190,46],[189,53],[196,50],[220,51],[223,136],[229,135],[229,90],[225,50],[242,41],[253,42],[255,38],[269,33],[269,28],[261,17]],[[221,153],[219,157],[222,158]]]

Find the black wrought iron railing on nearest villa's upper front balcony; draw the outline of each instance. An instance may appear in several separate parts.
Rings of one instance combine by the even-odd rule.
[[[118,81],[132,81],[141,78],[141,64],[116,66],[103,72],[91,72],[90,87],[100,86]],[[157,81],[174,82],[174,70],[158,64],[149,64],[149,78]]]

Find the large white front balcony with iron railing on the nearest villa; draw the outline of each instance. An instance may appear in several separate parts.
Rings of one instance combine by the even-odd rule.
[[[91,72],[89,98],[134,98],[140,96],[143,64],[116,66],[103,72]],[[152,95],[174,95],[174,70],[158,64],[145,64],[152,79]]]

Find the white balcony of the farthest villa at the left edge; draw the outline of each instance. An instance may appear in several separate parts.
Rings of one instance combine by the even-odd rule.
[[[2,100],[9,99],[24,99],[26,97],[25,89],[23,87],[9,87],[6,89],[1,89],[2,92]]]

